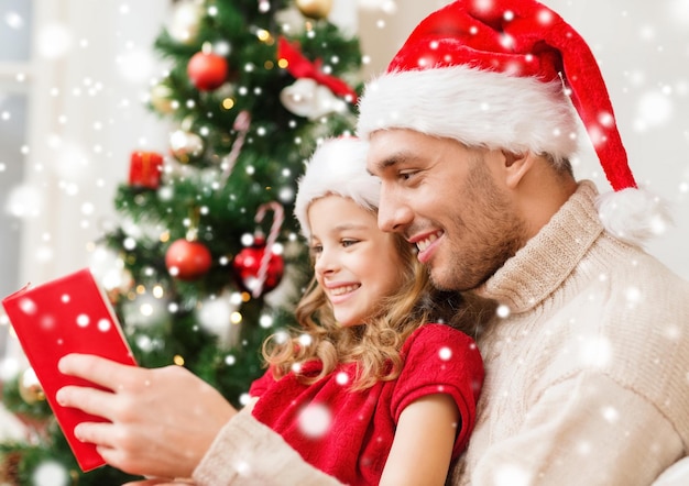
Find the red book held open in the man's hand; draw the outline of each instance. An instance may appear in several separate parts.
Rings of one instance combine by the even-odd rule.
[[[36,287],[26,286],[6,297],[2,306],[79,467],[87,472],[102,466],[96,446],[76,439],[74,428],[106,419],[62,407],[55,394],[66,385],[102,388],[59,373],[57,362],[66,354],[96,354],[136,365],[105,292],[90,270],[81,269]]]

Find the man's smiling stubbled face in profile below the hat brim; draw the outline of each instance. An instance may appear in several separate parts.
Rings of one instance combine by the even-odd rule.
[[[483,284],[525,241],[500,178],[501,151],[468,148],[411,130],[372,134],[368,169],[382,180],[379,227],[418,247],[434,284]]]

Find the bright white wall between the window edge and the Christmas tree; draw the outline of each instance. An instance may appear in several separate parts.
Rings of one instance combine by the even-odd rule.
[[[167,0],[36,1],[25,174],[37,216],[24,222],[23,280],[86,266],[129,154],[166,150],[165,128],[142,97],[167,9]]]

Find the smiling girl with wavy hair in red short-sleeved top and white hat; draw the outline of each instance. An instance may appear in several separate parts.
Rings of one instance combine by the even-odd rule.
[[[299,180],[315,276],[299,328],[264,343],[252,412],[342,483],[444,485],[473,426],[482,362],[467,334],[427,323],[456,320],[458,296],[439,298],[413,247],[379,230],[365,153],[357,139],[326,141]]]

